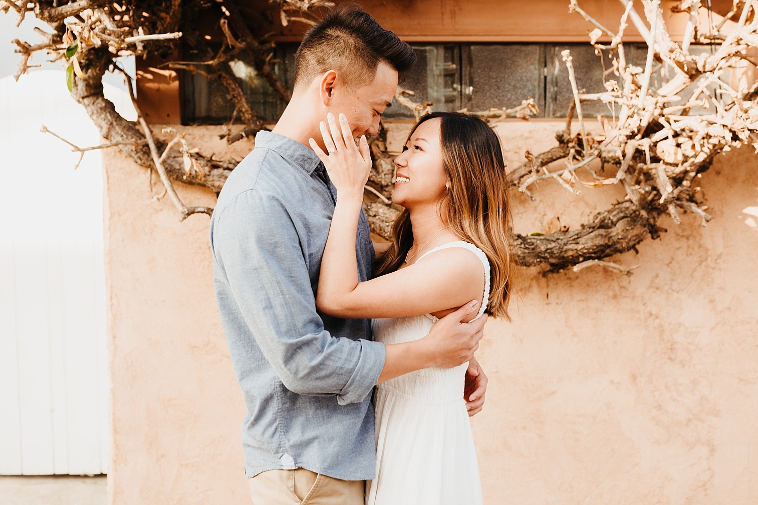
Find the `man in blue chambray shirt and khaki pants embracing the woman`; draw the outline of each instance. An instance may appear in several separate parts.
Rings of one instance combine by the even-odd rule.
[[[357,8],[330,11],[306,33],[293,98],[273,132],[227,179],[211,220],[218,308],[248,413],[245,472],[255,505],[363,503],[374,478],[377,380],[473,357],[486,317],[467,304],[415,341],[411,352],[371,341],[371,322],[317,313],[315,291],[336,192],[309,148],[327,113],[346,114],[353,136],[377,132],[409,45]],[[322,145],[321,148],[324,148]],[[359,278],[374,248],[364,215],[356,240]],[[470,413],[487,379],[471,361]],[[475,389],[474,394],[471,390]]]

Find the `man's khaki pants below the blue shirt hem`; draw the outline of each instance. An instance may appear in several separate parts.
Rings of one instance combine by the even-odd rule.
[[[343,481],[304,468],[268,470],[250,481],[253,505],[363,505],[365,481]]]

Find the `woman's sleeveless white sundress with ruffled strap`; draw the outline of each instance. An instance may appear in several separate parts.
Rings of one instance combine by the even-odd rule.
[[[468,242],[440,249],[466,248],[484,265],[484,297],[477,314],[487,309],[490,262]],[[418,261],[417,260],[417,261]],[[431,314],[375,319],[374,340],[399,344],[428,335],[437,318]],[[455,368],[428,368],[376,386],[376,479],[367,482],[366,505],[481,505],[479,466],[471,424],[463,399],[468,363]]]

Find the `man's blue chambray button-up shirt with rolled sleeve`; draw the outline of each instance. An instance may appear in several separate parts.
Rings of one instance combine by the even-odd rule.
[[[258,132],[211,218],[213,278],[247,415],[245,473],[305,468],[336,479],[374,478],[371,390],[384,344],[369,320],[316,311],[321,255],[337,191],[305,145]],[[361,214],[359,280],[374,249]]]

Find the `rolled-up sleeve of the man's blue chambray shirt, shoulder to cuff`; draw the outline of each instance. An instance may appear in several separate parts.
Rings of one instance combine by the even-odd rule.
[[[307,241],[284,202],[250,189],[229,201],[215,221],[216,266],[283,385],[298,394],[337,395],[339,404],[362,401],[384,367],[386,349],[380,342],[335,338],[324,329]]]

